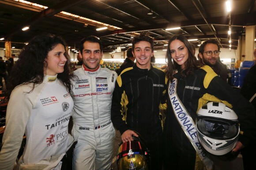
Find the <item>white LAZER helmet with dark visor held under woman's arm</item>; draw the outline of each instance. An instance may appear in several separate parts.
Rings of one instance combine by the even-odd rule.
[[[220,156],[236,146],[240,128],[232,109],[221,102],[208,102],[197,113],[196,130],[203,148]]]

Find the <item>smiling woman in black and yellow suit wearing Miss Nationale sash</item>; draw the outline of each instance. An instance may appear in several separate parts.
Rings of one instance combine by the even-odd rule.
[[[167,47],[169,85],[164,124],[164,167],[166,170],[203,170],[204,167],[211,170],[213,164],[209,154],[207,156],[198,145],[195,127],[198,109],[208,101],[219,101],[237,113],[243,132],[233,149],[233,152],[238,152],[255,135],[253,107],[209,66],[197,62],[186,37],[174,35]]]

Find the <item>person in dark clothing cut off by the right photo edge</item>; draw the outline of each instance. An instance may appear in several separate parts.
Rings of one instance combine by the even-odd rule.
[[[252,103],[256,115],[256,48],[253,51],[254,66],[249,69],[245,76],[243,86],[240,93]],[[245,170],[254,170],[256,167],[256,139],[254,138],[250,144],[241,150],[243,156],[243,165]]]

